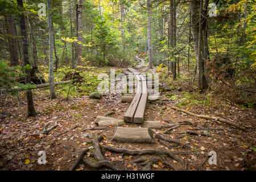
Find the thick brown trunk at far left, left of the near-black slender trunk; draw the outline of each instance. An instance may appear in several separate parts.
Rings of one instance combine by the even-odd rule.
[[[8,42],[9,42],[9,52],[10,52],[10,61],[11,66],[19,65],[19,56],[17,49],[17,41],[16,41],[16,32],[15,32],[15,24],[13,16],[6,16],[6,24],[7,24],[7,34]]]

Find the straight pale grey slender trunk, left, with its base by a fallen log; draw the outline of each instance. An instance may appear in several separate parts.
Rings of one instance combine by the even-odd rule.
[[[52,15],[51,15],[51,0],[47,0],[47,5],[48,5],[48,27],[49,27],[49,91],[50,91],[50,98],[53,99],[53,98],[56,98],[56,93],[55,93],[55,81],[54,81],[54,73],[53,73],[54,41],[53,41],[53,23],[52,23]]]

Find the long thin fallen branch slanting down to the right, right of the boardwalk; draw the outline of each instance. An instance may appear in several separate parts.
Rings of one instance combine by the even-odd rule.
[[[230,121],[228,121],[228,119],[213,117],[213,116],[209,116],[209,115],[199,115],[199,114],[191,113],[190,111],[187,111],[187,110],[185,110],[185,109],[180,109],[180,108],[178,108],[178,107],[173,107],[173,106],[170,106],[170,107],[171,107],[172,109],[179,110],[179,111],[183,111],[183,113],[187,113],[187,114],[193,115],[193,116],[198,117],[198,118],[213,119],[213,120],[220,121],[220,122],[226,123],[226,124],[228,124],[228,125],[237,127],[238,129],[241,129],[241,130],[243,130],[243,131],[246,131],[246,130],[245,130],[245,127],[240,126],[240,125],[237,125],[236,123],[230,122]]]

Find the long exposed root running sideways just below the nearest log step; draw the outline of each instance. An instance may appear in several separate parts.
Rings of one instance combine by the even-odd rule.
[[[102,146],[104,150],[118,152],[118,153],[124,153],[126,155],[167,155],[170,158],[176,160],[177,162],[182,163],[182,160],[179,158],[176,158],[174,154],[168,151],[159,151],[159,150],[128,150],[126,148],[115,148],[112,146]]]

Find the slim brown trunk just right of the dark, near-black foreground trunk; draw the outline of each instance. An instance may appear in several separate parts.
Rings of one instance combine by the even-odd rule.
[[[28,26],[30,27],[30,39],[31,39],[31,49],[32,49],[32,57],[33,57],[33,68],[35,71],[38,71],[38,52],[36,51],[36,40],[34,34],[34,26],[31,18],[27,16]]]

